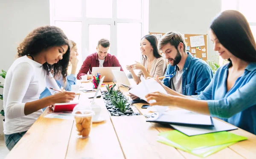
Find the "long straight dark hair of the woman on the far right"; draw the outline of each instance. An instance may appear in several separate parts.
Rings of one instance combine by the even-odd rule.
[[[235,10],[221,12],[212,21],[210,29],[234,56],[243,61],[256,62],[256,43],[243,14]]]

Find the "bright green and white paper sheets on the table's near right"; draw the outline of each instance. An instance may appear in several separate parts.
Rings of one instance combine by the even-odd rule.
[[[206,157],[236,142],[246,139],[246,137],[238,136],[227,131],[197,136],[186,136],[177,130],[172,130],[159,133],[159,139],[157,141],[192,153],[196,156]]]

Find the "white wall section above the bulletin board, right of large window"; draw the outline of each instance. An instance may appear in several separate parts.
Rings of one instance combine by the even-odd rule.
[[[221,0],[149,0],[149,32],[177,31],[208,34],[209,24],[221,12]],[[208,60],[218,62],[207,36]]]

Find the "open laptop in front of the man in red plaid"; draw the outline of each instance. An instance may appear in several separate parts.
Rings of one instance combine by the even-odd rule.
[[[100,73],[101,77],[105,76],[104,82],[116,81],[111,70],[120,71],[121,67],[93,67],[92,75],[95,76],[96,73]]]

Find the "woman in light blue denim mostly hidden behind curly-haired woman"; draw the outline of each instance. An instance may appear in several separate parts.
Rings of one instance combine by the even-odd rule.
[[[78,64],[78,52],[76,43],[73,40],[69,40],[70,42],[70,66],[71,66],[71,74],[66,76],[66,80],[63,80],[62,75],[55,77],[55,80],[58,84],[58,87],[61,90],[71,90],[71,85],[76,84],[76,68]],[[40,99],[52,95],[51,92],[45,88],[44,92],[41,93]],[[44,109],[43,109],[44,110]]]

